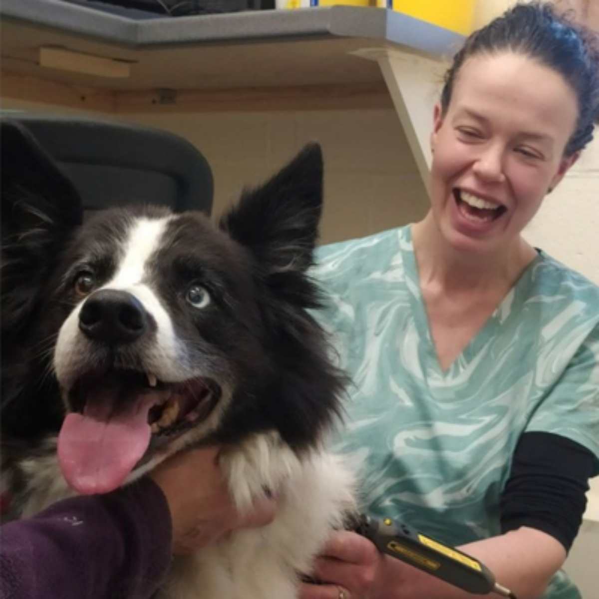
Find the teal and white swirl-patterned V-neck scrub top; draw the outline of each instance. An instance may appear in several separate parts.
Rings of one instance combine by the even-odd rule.
[[[523,432],[599,456],[593,283],[539,252],[443,371],[410,226],[320,247],[316,260],[327,302],[317,318],[353,381],[336,449],[358,467],[368,512],[460,545],[501,534],[500,495]],[[560,572],[544,597],[580,595]]]

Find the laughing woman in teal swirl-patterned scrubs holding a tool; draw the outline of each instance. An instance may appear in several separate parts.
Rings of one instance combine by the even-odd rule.
[[[597,116],[597,41],[518,4],[447,73],[426,217],[322,247],[315,271],[367,509],[459,546],[519,599],[580,597],[560,568],[599,473],[599,288],[521,232]],[[302,599],[471,596],[390,560],[336,535],[315,568],[329,586]]]

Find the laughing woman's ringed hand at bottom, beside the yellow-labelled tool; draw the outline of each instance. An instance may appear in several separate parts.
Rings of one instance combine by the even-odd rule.
[[[322,585],[304,584],[300,599],[375,599],[383,587],[383,561],[368,539],[337,531],[314,563],[313,577]]]

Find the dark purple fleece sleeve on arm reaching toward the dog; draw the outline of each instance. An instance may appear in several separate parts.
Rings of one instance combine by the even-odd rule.
[[[148,599],[171,559],[161,489],[142,479],[0,527],[0,599]]]

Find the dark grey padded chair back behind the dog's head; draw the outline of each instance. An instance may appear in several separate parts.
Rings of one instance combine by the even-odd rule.
[[[74,183],[90,211],[159,204],[210,214],[212,171],[187,140],[165,131],[79,117],[3,114],[25,125]]]

